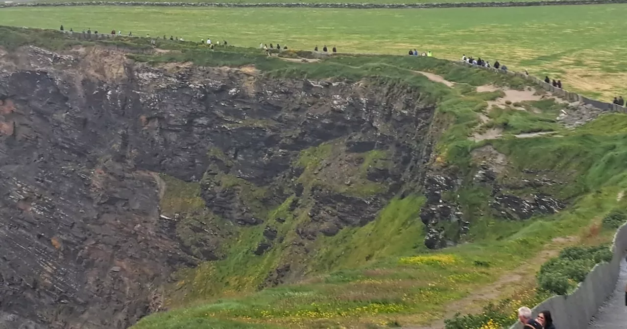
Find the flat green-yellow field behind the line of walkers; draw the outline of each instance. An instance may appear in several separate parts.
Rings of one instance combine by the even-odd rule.
[[[13,26],[75,31],[226,39],[238,46],[287,44],[312,50],[405,54],[432,50],[499,60],[510,69],[559,78],[567,90],[611,100],[627,94],[627,4],[531,8],[280,9],[280,8],[9,8]],[[36,18],[36,19],[34,19]]]

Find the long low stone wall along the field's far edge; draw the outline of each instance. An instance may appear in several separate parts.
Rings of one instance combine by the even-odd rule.
[[[62,7],[62,6],[163,6],[163,7],[239,7],[239,8],[347,8],[347,9],[399,9],[399,8],[482,8],[561,6],[575,4],[619,4],[627,0],[556,0],[556,1],[504,1],[481,3],[169,3],[147,1],[80,1],[71,3],[3,3],[0,8],[10,7]]]

